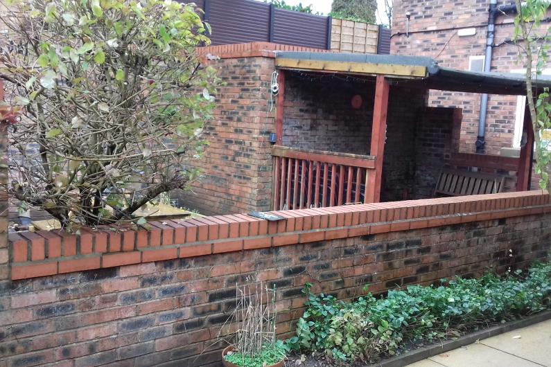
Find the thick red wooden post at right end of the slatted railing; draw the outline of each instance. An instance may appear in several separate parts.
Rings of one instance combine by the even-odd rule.
[[[373,125],[371,127],[371,155],[375,156],[375,169],[368,170],[366,202],[378,203],[381,199],[381,176],[383,174],[383,153],[387,136],[388,94],[390,86],[384,75],[377,75]]]

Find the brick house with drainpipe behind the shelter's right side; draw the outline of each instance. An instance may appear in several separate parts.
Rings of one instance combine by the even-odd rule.
[[[495,34],[490,42],[491,60],[485,60],[491,6],[495,7]],[[512,1],[394,0],[391,53],[432,57],[439,65],[454,69],[482,71],[485,66],[493,72],[523,73],[517,46],[511,42],[515,15]],[[489,95],[482,118],[484,145],[477,150],[480,93],[431,91],[429,98],[431,106],[462,109],[459,152],[492,155],[518,156],[524,104],[523,96]],[[537,177],[532,181],[532,187],[538,187]]]

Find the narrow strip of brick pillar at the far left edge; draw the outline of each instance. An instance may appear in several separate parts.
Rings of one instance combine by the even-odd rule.
[[[0,101],[3,82],[0,80]],[[10,278],[8,251],[8,124],[0,121],[0,283]],[[0,286],[1,289],[1,286]]]

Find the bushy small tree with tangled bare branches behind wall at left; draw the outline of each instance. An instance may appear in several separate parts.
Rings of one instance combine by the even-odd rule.
[[[208,25],[170,0],[15,0],[0,78],[22,108],[10,127],[10,193],[96,225],[197,176],[213,82],[196,48]],[[137,220],[143,222],[143,219]]]

